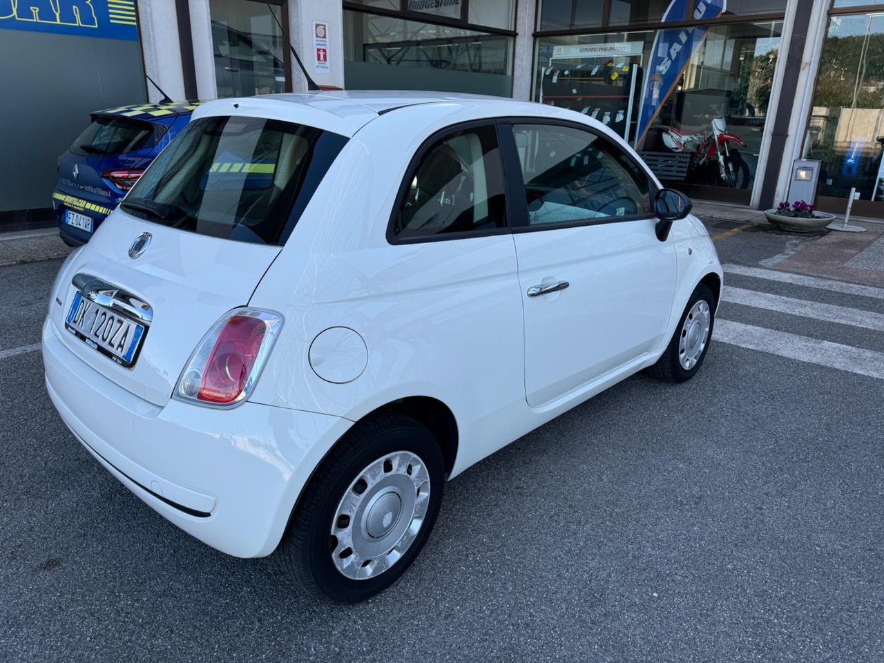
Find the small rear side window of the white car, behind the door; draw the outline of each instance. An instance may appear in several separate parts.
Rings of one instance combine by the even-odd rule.
[[[483,232],[507,225],[494,126],[446,135],[410,171],[393,234],[398,238]]]

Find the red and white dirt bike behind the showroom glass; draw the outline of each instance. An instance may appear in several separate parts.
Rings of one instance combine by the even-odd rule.
[[[719,187],[744,189],[749,187],[751,175],[749,164],[735,146],[746,143],[733,133],[728,133],[724,118],[712,118],[712,132],[685,133],[674,126],[663,129],[661,138],[667,149],[690,154],[688,167],[690,179],[697,183],[714,184]]]

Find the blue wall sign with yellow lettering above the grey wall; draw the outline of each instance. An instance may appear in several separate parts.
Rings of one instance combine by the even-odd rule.
[[[0,0],[0,30],[136,41],[134,0]]]

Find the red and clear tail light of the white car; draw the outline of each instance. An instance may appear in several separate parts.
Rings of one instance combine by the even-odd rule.
[[[217,321],[181,371],[175,397],[216,407],[248,398],[271,352],[282,316],[233,309]]]

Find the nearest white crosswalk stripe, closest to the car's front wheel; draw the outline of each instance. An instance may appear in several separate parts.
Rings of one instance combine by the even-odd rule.
[[[874,350],[810,339],[788,331],[774,331],[720,318],[715,321],[713,339],[732,346],[778,354],[799,362],[815,363],[830,369],[847,370],[884,380],[884,353]]]

